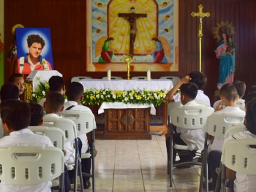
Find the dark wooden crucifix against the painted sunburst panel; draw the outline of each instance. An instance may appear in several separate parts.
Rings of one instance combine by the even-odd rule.
[[[135,13],[135,7],[131,7],[129,13],[118,13],[119,18],[124,18],[129,21],[130,35],[129,35],[129,54],[133,55],[134,43],[137,35],[136,20],[139,18],[146,18],[146,14]]]

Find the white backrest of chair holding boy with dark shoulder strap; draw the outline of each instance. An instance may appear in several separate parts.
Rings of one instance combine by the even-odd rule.
[[[75,122],[78,135],[89,133],[94,128],[95,117],[92,112],[63,110],[59,112],[59,115]]]

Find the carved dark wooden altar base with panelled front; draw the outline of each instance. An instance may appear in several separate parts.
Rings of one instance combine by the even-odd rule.
[[[151,139],[150,108],[108,109],[102,139]]]

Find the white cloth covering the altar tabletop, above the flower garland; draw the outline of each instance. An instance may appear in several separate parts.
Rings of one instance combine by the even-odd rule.
[[[98,79],[83,79],[80,80],[83,89],[95,88],[96,90],[110,88],[111,90],[129,91],[140,88],[146,90],[157,91],[161,89],[170,90],[173,88],[173,82],[165,79],[154,80],[98,80]]]

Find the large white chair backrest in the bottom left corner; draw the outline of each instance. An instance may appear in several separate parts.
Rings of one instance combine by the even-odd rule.
[[[15,185],[37,185],[64,172],[64,153],[57,147],[0,148],[0,180]]]

